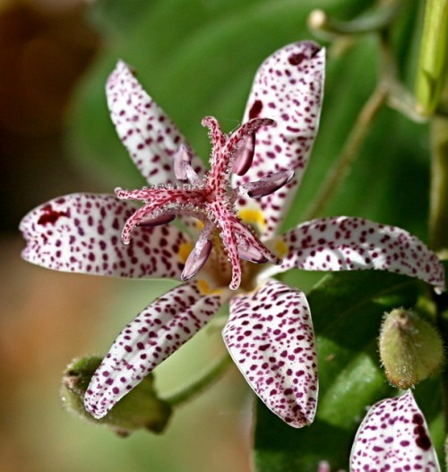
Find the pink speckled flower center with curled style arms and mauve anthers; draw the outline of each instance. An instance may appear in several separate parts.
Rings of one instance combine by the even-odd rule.
[[[158,225],[180,217],[187,227],[194,228],[191,219],[203,223],[194,249],[185,261],[181,278],[188,280],[198,273],[211,254],[217,249],[218,259],[223,259],[215,238],[220,238],[220,246],[231,267],[229,287],[237,290],[241,284],[242,267],[240,259],[256,264],[271,262],[281,264],[271,250],[267,249],[255,235],[252,228],[238,217],[237,197],[247,194],[260,198],[283,187],[292,179],[292,171],[276,172],[256,182],[249,182],[231,188],[231,173],[244,175],[254,158],[254,133],[259,127],[271,126],[269,118],[253,118],[238,127],[235,132],[225,135],[216,118],[206,117],[202,125],[209,127],[212,144],[211,170],[201,179],[194,171],[192,153],[180,146],[174,157],[174,173],[179,181],[177,186],[160,185],[137,190],[116,188],[118,198],[142,201],[143,205],[125,223],[122,239],[129,243],[131,233],[137,225]],[[219,265],[219,267],[221,264]],[[246,270],[246,267],[245,267]]]

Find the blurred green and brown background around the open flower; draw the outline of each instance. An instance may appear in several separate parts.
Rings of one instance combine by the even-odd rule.
[[[57,274],[24,263],[17,225],[43,201],[73,191],[138,187],[141,177],[109,121],[104,83],[117,58],[206,160],[205,115],[237,126],[252,79],[277,48],[313,38],[321,7],[349,19],[366,0],[10,0],[0,2],[0,470],[216,472],[250,470],[252,395],[232,368],[176,412],[166,434],[120,439],[65,413],[61,372],[73,357],[104,354],[116,333],[168,282]],[[421,3],[409,2],[392,38],[404,83],[413,81]],[[294,211],[300,221],[377,80],[367,35],[330,55],[321,132]],[[362,215],[426,240],[428,130],[384,109],[326,214]],[[291,284],[308,288],[298,271]],[[175,389],[220,354],[205,329],[158,370]],[[329,438],[330,440],[331,438]]]

